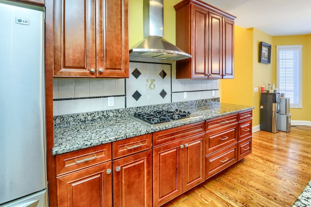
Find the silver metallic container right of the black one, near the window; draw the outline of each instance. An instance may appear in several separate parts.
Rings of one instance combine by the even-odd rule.
[[[291,131],[290,98],[280,97],[280,110],[277,113],[277,130]]]

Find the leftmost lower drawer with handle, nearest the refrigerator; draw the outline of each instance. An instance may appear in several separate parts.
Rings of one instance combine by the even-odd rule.
[[[111,143],[56,155],[56,176],[111,160]]]

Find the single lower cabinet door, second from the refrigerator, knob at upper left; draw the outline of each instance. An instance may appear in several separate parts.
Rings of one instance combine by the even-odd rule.
[[[151,207],[151,150],[113,161],[113,206]]]

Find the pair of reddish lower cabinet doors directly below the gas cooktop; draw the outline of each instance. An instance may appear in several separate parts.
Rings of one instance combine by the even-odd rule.
[[[153,149],[153,207],[205,180],[205,133]]]

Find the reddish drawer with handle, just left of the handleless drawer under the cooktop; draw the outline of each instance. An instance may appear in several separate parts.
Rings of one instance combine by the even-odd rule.
[[[151,149],[152,134],[144,134],[112,143],[112,158],[116,159],[139,151]]]

